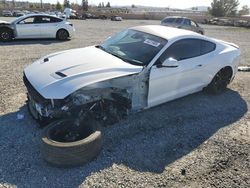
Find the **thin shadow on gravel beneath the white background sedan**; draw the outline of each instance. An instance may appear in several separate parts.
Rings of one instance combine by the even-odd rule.
[[[57,39],[14,39],[10,42],[0,41],[0,46],[16,46],[16,45],[31,45],[31,44],[50,45],[52,43],[54,44],[65,43],[68,41],[70,41],[70,39],[64,41],[60,41]]]

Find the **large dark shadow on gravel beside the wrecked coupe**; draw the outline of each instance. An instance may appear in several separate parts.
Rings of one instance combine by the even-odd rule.
[[[114,164],[138,172],[162,173],[218,130],[238,121],[247,110],[245,100],[233,90],[218,96],[202,92],[189,95],[104,128],[103,149],[97,159],[82,167],[63,169],[42,160],[42,130],[24,105],[18,112],[0,117],[0,184],[76,187],[92,173],[112,170]],[[24,119],[18,120],[22,115]]]

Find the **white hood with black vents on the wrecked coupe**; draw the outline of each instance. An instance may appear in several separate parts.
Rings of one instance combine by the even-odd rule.
[[[63,99],[82,87],[142,69],[91,46],[48,55],[25,68],[24,74],[44,98]]]

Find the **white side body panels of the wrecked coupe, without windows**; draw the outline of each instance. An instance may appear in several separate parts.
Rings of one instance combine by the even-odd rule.
[[[157,68],[152,65],[148,108],[201,91],[224,67],[231,67],[232,78],[235,76],[240,56],[237,46],[224,41],[209,40],[203,36],[188,38],[206,39],[215,43],[216,49],[208,54],[180,61],[178,67]],[[166,48],[180,39],[171,41]]]

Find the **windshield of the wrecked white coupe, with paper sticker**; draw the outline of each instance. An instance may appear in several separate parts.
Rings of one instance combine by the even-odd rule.
[[[148,65],[167,40],[136,30],[125,30],[107,39],[100,49],[134,65]]]

